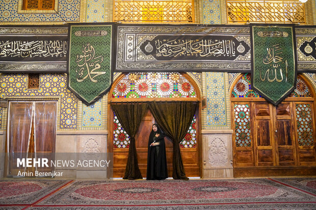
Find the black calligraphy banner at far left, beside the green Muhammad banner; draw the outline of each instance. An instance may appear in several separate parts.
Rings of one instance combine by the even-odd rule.
[[[65,26],[0,27],[0,72],[66,72]]]

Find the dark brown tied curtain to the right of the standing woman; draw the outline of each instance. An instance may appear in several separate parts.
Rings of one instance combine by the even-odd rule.
[[[174,179],[189,180],[183,168],[179,143],[189,130],[196,107],[197,103],[192,101],[154,101],[149,104],[155,121],[173,141],[172,177]]]

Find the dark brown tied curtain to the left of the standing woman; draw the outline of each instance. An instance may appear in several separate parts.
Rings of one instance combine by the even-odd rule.
[[[135,135],[148,108],[146,103],[113,103],[111,104],[122,128],[130,137],[129,151],[123,179],[143,178],[138,167]]]

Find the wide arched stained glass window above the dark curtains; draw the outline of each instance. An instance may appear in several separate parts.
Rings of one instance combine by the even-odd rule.
[[[129,73],[116,84],[112,98],[196,98],[196,91],[179,73]]]

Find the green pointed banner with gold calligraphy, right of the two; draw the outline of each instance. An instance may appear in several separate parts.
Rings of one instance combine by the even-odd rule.
[[[293,25],[251,24],[252,88],[274,105],[291,94],[297,78]]]

